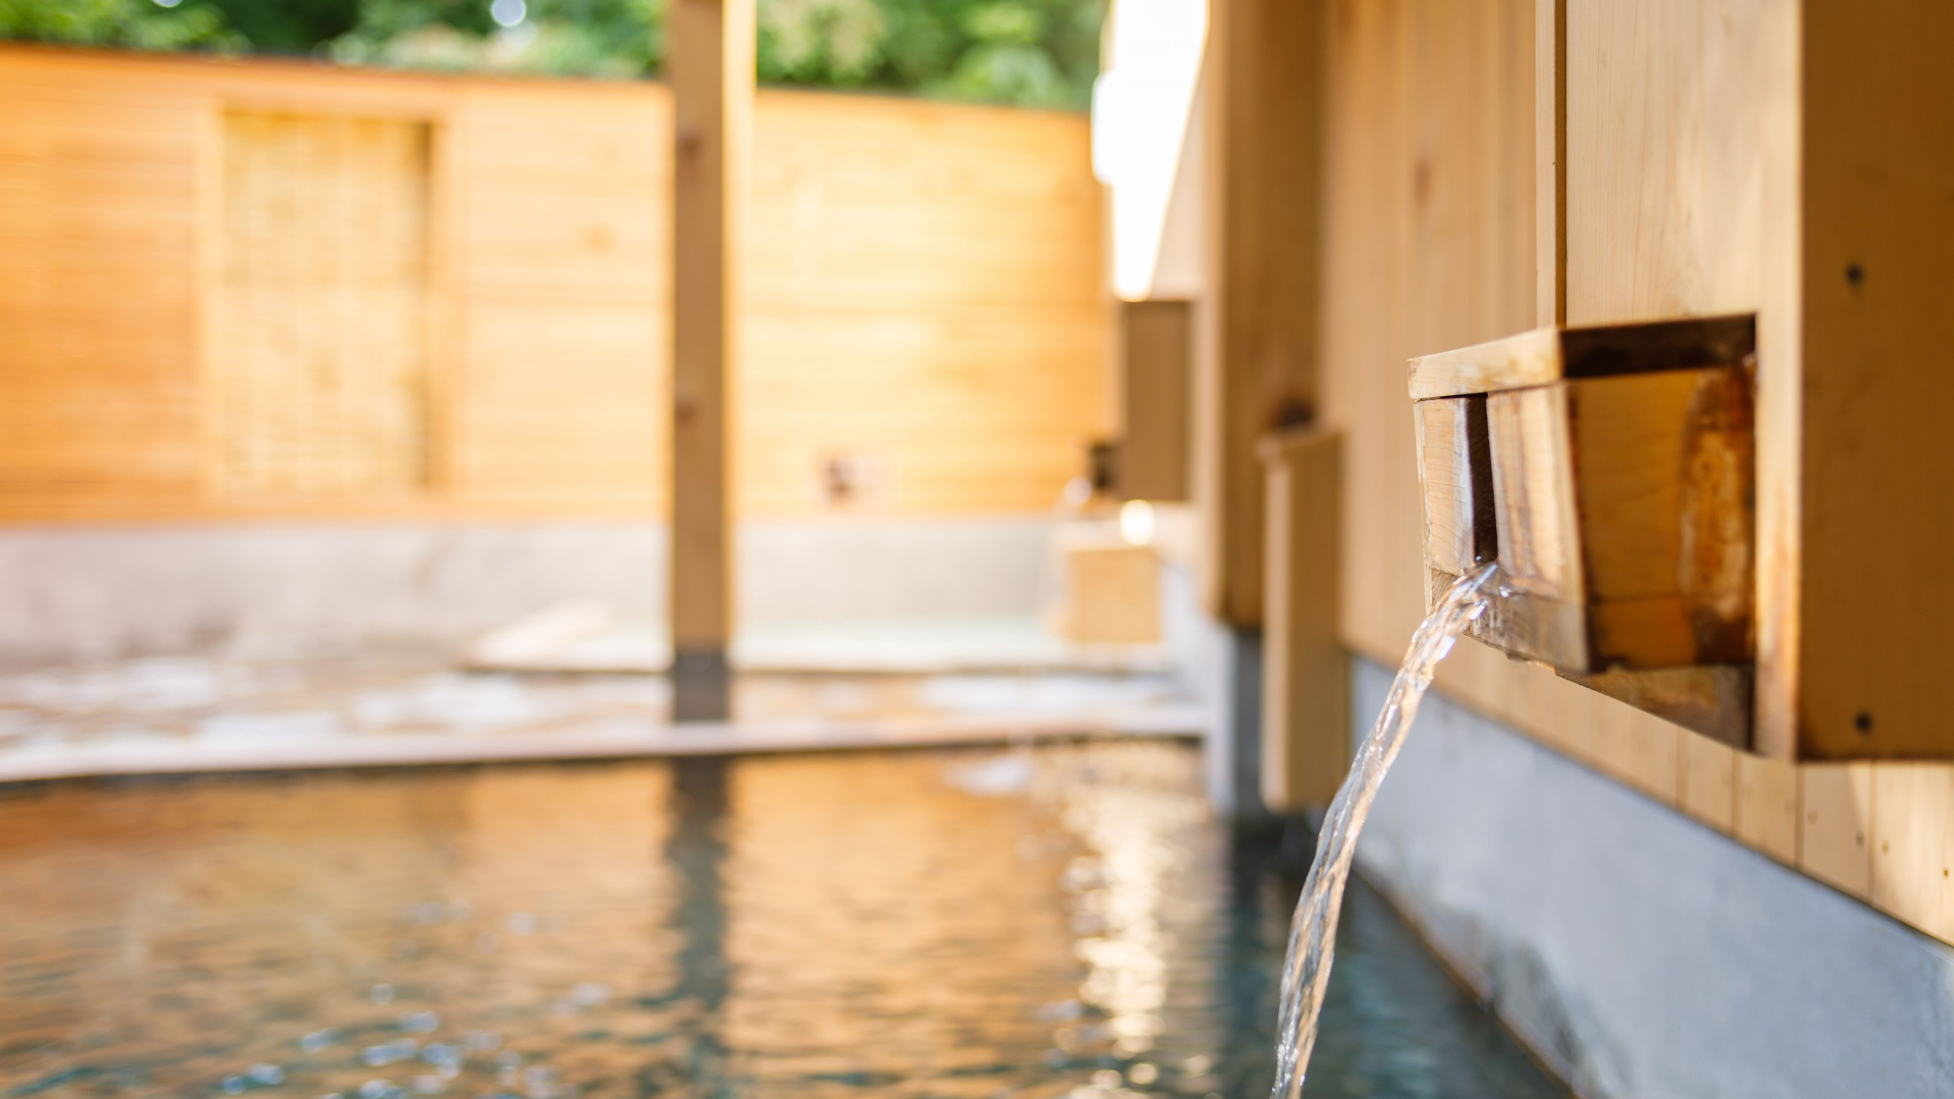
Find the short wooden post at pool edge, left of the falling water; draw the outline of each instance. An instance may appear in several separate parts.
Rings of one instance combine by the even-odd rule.
[[[1342,435],[1278,431],[1262,441],[1262,804],[1299,812],[1329,804],[1350,769],[1350,668],[1337,629]]]

